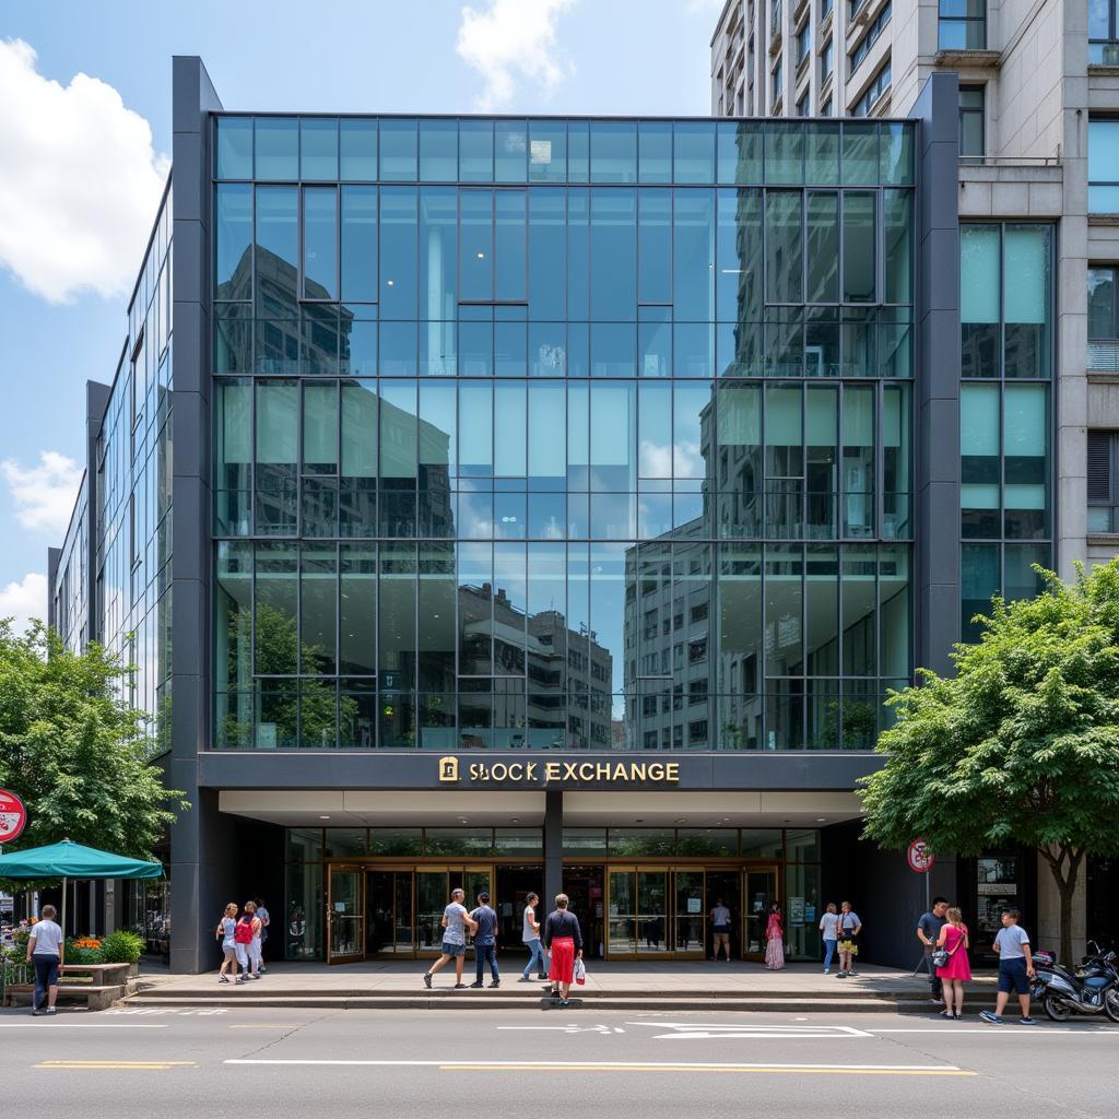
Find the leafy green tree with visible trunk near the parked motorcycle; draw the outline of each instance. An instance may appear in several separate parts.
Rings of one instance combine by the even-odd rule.
[[[1036,848],[1061,899],[1063,960],[1085,855],[1119,852],[1119,560],[1071,584],[1036,568],[1044,591],[996,598],[956,676],[922,671],[892,695],[896,724],[864,779],[865,835],[900,848],[976,855]]]

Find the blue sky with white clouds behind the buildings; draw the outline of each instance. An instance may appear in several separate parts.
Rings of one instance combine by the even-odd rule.
[[[46,549],[65,535],[73,463],[82,460],[83,386],[112,377],[166,172],[172,55],[201,55],[231,110],[703,114],[721,8],[722,0],[4,6],[0,617],[45,609]]]

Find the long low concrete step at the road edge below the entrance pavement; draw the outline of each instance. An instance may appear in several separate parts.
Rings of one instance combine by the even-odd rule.
[[[659,996],[634,997],[632,995],[583,997],[572,993],[572,1006],[585,1010],[661,1010],[661,1012],[696,1012],[713,1009],[711,999],[703,996]],[[911,1000],[896,1002],[884,998],[781,998],[772,999],[754,996],[726,997],[718,1000],[714,1007],[720,1013],[772,1013],[772,1014],[896,1014],[899,1012],[919,1013],[929,1008],[928,1003],[919,1004]],[[510,997],[504,991],[468,993],[468,991],[423,991],[408,994],[391,991],[379,997],[368,995],[311,995],[278,993],[267,995],[258,993],[258,988],[223,989],[208,994],[178,994],[161,998],[151,998],[148,994],[133,995],[121,1004],[124,1008],[135,1009],[170,1009],[170,1008],[283,1008],[283,1009],[335,1009],[335,1010],[395,1010],[395,1009],[438,1009],[438,1010],[498,1010],[529,1009],[533,1007],[558,1008],[558,1004],[545,998],[543,993],[532,999],[523,996]]]

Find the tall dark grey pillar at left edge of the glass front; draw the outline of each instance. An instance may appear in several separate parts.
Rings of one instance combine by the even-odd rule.
[[[171,970],[213,966],[219,897],[217,794],[198,783],[209,744],[209,113],[222,109],[196,57],[172,62],[175,454],[171,474],[171,756],[168,782],[192,805],[171,827]]]

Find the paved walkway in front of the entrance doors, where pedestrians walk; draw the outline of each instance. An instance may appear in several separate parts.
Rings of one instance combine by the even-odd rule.
[[[325,963],[270,963],[267,975],[253,984],[261,995],[359,994],[361,991],[414,993],[422,986],[424,960],[386,960],[366,963],[342,963],[329,967]],[[504,953],[498,957],[502,970],[501,988],[516,991],[518,987],[533,991],[535,985],[517,982],[525,957],[520,952]],[[141,970],[142,986],[158,986],[163,994],[192,994],[200,989],[209,993],[215,986],[216,968],[199,976],[169,975]],[[627,961],[605,962],[587,960],[585,991],[610,994],[651,994],[668,996],[764,997],[771,994],[817,996],[822,998],[850,997],[855,993],[865,995],[919,996],[929,989],[929,980],[923,974],[912,976],[896,968],[883,968],[873,963],[859,968],[859,974],[848,979],[837,979],[835,972],[826,976],[819,966],[812,963],[790,963],[782,971],[770,971],[760,963],[734,961],[712,963],[707,961]],[[453,967],[448,965],[436,975],[435,984],[443,986],[452,980]],[[464,969],[467,982],[474,977],[474,961],[468,953]],[[487,975],[487,982],[489,976]],[[994,975],[977,975],[972,988],[993,988]]]

